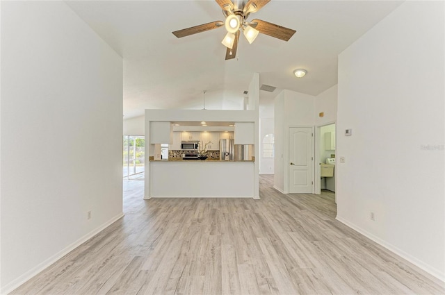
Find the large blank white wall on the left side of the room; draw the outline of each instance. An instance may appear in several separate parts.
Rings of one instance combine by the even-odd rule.
[[[1,84],[4,294],[122,217],[122,58],[61,1],[3,1]]]

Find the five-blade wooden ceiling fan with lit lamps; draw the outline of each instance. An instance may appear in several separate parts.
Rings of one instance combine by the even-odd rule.
[[[271,24],[270,22],[265,22],[261,19],[253,19],[252,22],[247,22],[250,13],[257,12],[270,0],[248,0],[247,3],[245,3],[245,1],[235,1],[236,4],[232,3],[231,0],[215,1],[221,8],[223,8],[223,14],[225,15],[224,22],[209,22],[208,24],[184,28],[182,30],[172,32],[173,35],[181,38],[196,33],[210,31],[214,28],[219,28],[220,26],[225,26],[227,34],[221,43],[227,47],[225,59],[230,60],[236,56],[240,31],[243,31],[245,38],[250,44],[252,44],[259,33],[263,33],[284,41],[289,41],[293,34],[296,33],[296,31],[292,30],[291,28],[284,28],[284,26]]]

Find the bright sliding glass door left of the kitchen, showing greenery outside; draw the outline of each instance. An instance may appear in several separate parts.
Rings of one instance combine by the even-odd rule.
[[[143,180],[145,172],[145,137],[124,135],[122,175],[129,180]]]

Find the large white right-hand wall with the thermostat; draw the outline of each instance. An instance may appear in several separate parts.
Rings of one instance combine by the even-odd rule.
[[[444,52],[444,2],[406,1],[340,54],[336,167],[337,219],[442,280]]]

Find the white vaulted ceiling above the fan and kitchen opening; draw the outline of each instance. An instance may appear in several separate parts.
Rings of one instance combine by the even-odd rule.
[[[178,39],[172,31],[224,20],[215,1],[67,1],[124,60],[124,118],[145,108],[239,109],[254,72],[261,103],[283,89],[318,95],[337,84],[337,56],[402,1],[270,1],[249,19],[293,28],[289,42],[243,35],[225,60],[225,28]],[[307,69],[295,78],[293,69]],[[204,95],[203,90],[207,90]]]

